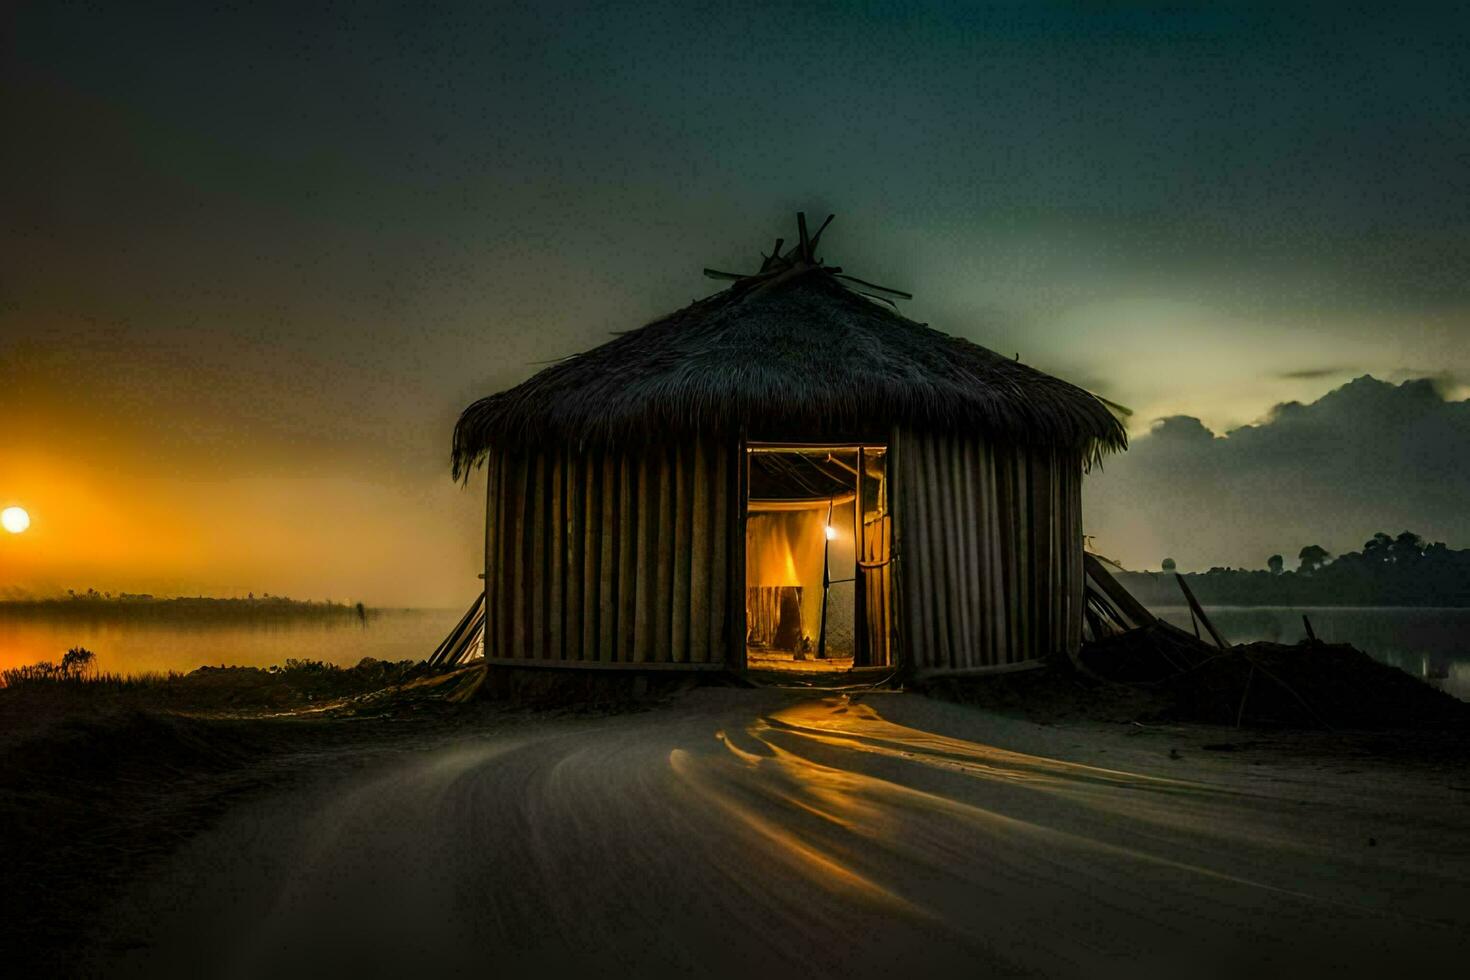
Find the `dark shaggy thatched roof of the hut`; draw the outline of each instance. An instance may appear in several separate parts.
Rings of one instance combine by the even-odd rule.
[[[757,276],[472,404],[454,426],[454,475],[492,447],[742,429],[766,439],[895,423],[982,430],[1075,448],[1089,463],[1126,447],[1117,417],[1082,388],[914,323],[848,285],[860,281],[779,245]]]

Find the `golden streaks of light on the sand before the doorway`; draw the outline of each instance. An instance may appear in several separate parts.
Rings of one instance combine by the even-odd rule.
[[[1223,884],[1270,892],[1310,902],[1355,908],[1351,902],[1333,901],[1282,887],[1263,880],[1230,874],[1200,862],[1167,857],[1136,842],[1104,840],[1089,833],[1078,833],[1014,817],[932,792],[858,771],[841,764],[845,752],[878,755],[900,764],[947,770],[957,776],[1008,785],[1026,792],[1042,792],[1054,798],[1070,798],[1100,813],[1114,811],[1144,824],[1163,827],[1180,817],[1189,820],[1197,804],[1219,805],[1238,793],[1192,780],[1167,779],[1122,770],[1067,763],[1063,760],[1011,752],[992,745],[923,732],[883,718],[867,704],[845,695],[806,701],[769,716],[756,718],[741,733],[750,748],[742,748],[726,732],[716,738],[729,755],[701,758],[676,749],[669,764],[681,782],[698,792],[707,802],[738,818],[769,843],[789,865],[804,871],[811,880],[833,892],[857,893],[870,902],[894,911],[929,918],[935,912],[903,898],[894,884],[854,867],[861,858],[861,846],[841,843],[844,837],[867,840],[867,846],[904,852],[916,848],[906,839],[913,833],[916,814],[941,815],[950,829],[935,827],[929,840],[941,851],[951,851],[958,860],[975,852],[980,840],[1029,842],[1053,860],[1066,862],[1063,855],[1079,860],[1086,855],[1101,865],[1152,867],[1170,874],[1198,876]],[[801,746],[823,749],[823,761],[807,758]],[[831,752],[836,751],[833,758]],[[731,765],[735,771],[731,771]],[[745,773],[747,777],[741,777]],[[1120,799],[1105,799],[1117,796]],[[741,799],[750,795],[747,802]],[[1173,799],[1175,813],[1167,820],[1151,802]],[[775,810],[772,808],[775,804]],[[788,815],[782,815],[788,814]],[[801,818],[804,814],[806,820]],[[817,824],[810,824],[816,818]],[[817,830],[825,824],[831,832]],[[900,832],[900,827],[908,827]],[[832,836],[832,835],[836,836]],[[994,851],[1004,854],[1005,849]],[[916,852],[914,857],[917,857]],[[1069,865],[1070,867],[1070,865]]]

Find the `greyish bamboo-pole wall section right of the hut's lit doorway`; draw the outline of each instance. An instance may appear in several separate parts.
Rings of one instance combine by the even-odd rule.
[[[1082,642],[1078,454],[900,435],[900,613],[916,673],[1019,667]]]

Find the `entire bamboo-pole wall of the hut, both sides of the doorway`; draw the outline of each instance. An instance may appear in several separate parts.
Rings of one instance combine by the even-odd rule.
[[[901,441],[898,441],[901,439]],[[1073,453],[904,432],[891,447],[895,554],[864,554],[869,663],[1004,670],[1082,639],[1082,472]],[[734,445],[494,455],[485,655],[526,666],[744,664],[742,480]],[[876,516],[876,514],[875,514]],[[876,527],[875,527],[876,530]],[[882,535],[873,535],[879,541]],[[892,580],[897,605],[881,601]],[[867,595],[867,591],[873,591]]]

